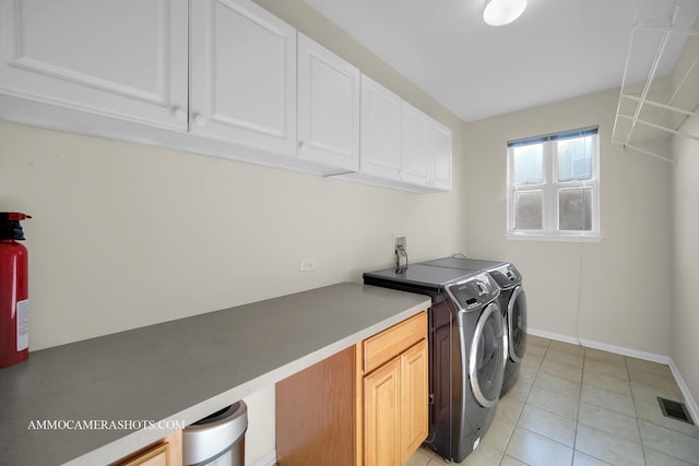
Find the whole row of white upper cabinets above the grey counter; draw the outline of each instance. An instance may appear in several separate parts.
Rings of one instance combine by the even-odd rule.
[[[0,118],[451,189],[451,131],[251,0],[0,0]]]

